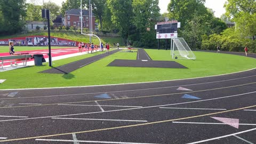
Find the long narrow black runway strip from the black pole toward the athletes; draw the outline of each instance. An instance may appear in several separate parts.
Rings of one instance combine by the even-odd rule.
[[[95,61],[98,61],[98,60],[103,59],[105,57],[108,57],[108,55],[114,54],[118,51],[121,51],[121,50],[110,51],[109,54],[103,53],[103,54],[95,55],[95,56],[90,57],[90,58],[86,58],[86,59],[83,59],[83,60],[68,63],[67,65],[63,65],[63,66],[60,66],[60,67],[55,67],[55,68],[52,68],[52,69],[47,69],[47,70],[41,71],[40,73],[68,74],[68,73],[71,73],[74,70],[77,70],[77,69],[82,68],[86,65],[89,65],[92,62],[95,62]]]

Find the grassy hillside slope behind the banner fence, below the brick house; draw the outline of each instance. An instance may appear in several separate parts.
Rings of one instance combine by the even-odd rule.
[[[7,38],[13,38],[13,37],[25,37],[25,36],[33,36],[33,35],[43,35],[47,36],[48,33],[45,31],[43,32],[29,32],[28,34],[19,34],[19,35],[11,35],[11,36],[2,36],[0,39],[7,39]],[[51,36],[59,37],[59,38],[65,38],[70,39],[72,41],[78,41],[78,42],[84,42],[89,43],[90,37],[85,36],[79,33],[75,33],[73,31],[51,31]],[[111,46],[113,46],[114,43],[119,43],[119,45],[124,46],[124,42],[122,37],[100,37],[103,44],[109,43]],[[92,37],[92,42],[98,44],[98,38]]]

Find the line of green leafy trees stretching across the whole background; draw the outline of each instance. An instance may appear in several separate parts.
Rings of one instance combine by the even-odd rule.
[[[66,0],[61,6],[47,2],[43,5],[31,0],[0,0],[0,35],[22,31],[26,21],[44,21],[41,9],[50,9],[51,19],[65,15],[66,10],[80,9],[80,0]],[[34,2],[34,3],[33,3]],[[103,32],[118,32],[124,42],[138,47],[157,47],[155,24],[170,20],[181,22],[179,37],[185,38],[193,49],[241,51],[245,45],[255,51],[255,0],[228,0],[226,13],[214,17],[205,7],[205,0],[171,0],[167,13],[159,13],[158,0],[91,0],[93,13]],[[89,9],[89,0],[82,0]],[[225,21],[235,22],[228,28]],[[164,42],[162,39],[161,42]]]

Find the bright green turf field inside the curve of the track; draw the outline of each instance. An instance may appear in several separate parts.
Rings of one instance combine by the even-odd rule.
[[[153,60],[172,60],[170,51],[146,51]],[[65,65],[69,62],[91,57],[94,54],[85,54],[74,58],[53,61],[53,66]],[[256,67],[256,59],[238,55],[207,52],[195,52],[195,55],[197,60],[175,60],[188,67],[188,69],[107,67],[115,59],[135,60],[137,57],[137,53],[121,52],[110,55],[67,75],[38,73],[50,68],[47,66],[48,63],[44,63],[44,66],[41,67],[32,66],[0,73],[0,79],[7,79],[3,84],[0,84],[0,89],[152,82],[228,74]]]

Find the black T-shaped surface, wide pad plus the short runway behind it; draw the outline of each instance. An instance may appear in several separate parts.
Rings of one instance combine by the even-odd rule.
[[[138,49],[137,60],[116,59],[109,63],[111,67],[148,67],[148,68],[187,68],[175,61],[152,60],[144,49]]]

